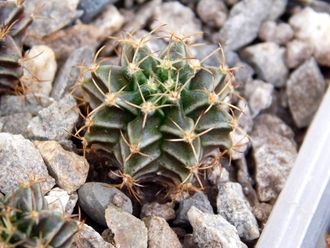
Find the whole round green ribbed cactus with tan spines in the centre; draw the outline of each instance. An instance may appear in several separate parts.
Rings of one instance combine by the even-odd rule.
[[[232,148],[232,74],[192,58],[185,39],[171,35],[158,55],[149,38],[120,40],[119,66],[90,68],[82,83],[92,108],[83,145],[112,152],[129,189],[155,179],[166,186],[192,178],[201,184],[205,155]]]

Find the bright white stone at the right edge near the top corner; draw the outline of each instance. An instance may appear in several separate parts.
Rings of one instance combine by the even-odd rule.
[[[330,15],[306,7],[294,14],[289,23],[295,31],[295,37],[313,47],[316,61],[330,66]]]

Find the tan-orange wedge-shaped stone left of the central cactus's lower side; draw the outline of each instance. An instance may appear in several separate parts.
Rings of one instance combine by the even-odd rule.
[[[58,186],[72,193],[85,183],[89,170],[86,159],[64,150],[56,141],[35,141],[34,144]]]

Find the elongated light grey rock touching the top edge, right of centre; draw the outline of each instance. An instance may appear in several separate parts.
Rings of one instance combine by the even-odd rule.
[[[270,14],[271,0],[243,0],[229,13],[216,40],[229,50],[237,50],[257,38],[260,25]]]

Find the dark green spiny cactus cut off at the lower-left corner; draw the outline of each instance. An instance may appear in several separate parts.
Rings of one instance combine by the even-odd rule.
[[[0,200],[0,247],[70,247],[77,231],[76,221],[47,210],[39,184]]]

